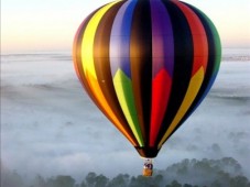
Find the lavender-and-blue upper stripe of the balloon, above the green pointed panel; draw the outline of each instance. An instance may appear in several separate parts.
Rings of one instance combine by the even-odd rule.
[[[137,0],[127,1],[118,11],[110,37],[110,66],[112,76],[120,68],[128,77],[130,70],[130,35],[133,10]]]

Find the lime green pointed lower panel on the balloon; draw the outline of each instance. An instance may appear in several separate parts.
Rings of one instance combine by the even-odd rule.
[[[139,125],[137,109],[134,105],[131,79],[121,69],[118,69],[113,77],[113,86],[121,109],[135,139],[138,140],[140,146],[144,146],[141,129]]]

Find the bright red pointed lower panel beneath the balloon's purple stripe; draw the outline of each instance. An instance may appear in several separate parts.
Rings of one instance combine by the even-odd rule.
[[[150,146],[155,146],[155,141],[165,114],[170,98],[172,78],[165,69],[156,74],[152,82],[152,111],[150,125]]]

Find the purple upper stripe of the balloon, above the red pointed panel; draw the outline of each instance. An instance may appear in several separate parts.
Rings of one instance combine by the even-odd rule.
[[[161,0],[151,2],[153,76],[165,68],[170,76],[174,69],[174,36],[169,12]]]

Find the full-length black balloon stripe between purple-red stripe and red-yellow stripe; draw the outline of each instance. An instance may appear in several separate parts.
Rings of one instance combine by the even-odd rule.
[[[175,56],[170,101],[157,136],[157,143],[165,134],[183,102],[189,85],[194,61],[194,44],[187,19],[173,2],[164,0],[163,3],[172,21]]]

